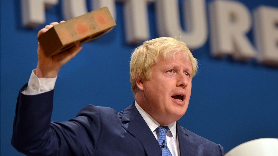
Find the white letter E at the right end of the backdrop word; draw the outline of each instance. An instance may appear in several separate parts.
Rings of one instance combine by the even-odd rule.
[[[278,8],[261,6],[254,12],[258,61],[278,66]]]

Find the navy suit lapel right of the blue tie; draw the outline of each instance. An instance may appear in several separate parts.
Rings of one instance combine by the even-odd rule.
[[[197,147],[188,137],[187,132],[177,123],[177,134],[179,137],[179,151],[180,155],[196,155]]]

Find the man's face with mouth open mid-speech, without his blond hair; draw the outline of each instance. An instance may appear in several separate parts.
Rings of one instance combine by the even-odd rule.
[[[188,107],[192,73],[191,62],[180,52],[158,61],[143,82],[145,111],[157,121],[164,118],[165,124],[179,120]]]

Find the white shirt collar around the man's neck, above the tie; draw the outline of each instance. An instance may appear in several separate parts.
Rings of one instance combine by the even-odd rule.
[[[160,126],[160,124],[156,120],[154,120],[154,118],[152,118],[146,111],[144,111],[144,109],[142,109],[136,101],[135,101],[135,107],[137,108],[137,110],[139,111],[139,113],[141,114],[141,116],[143,117],[145,122],[148,124],[151,131],[154,132],[156,130],[156,128],[158,128],[158,126]],[[176,122],[172,122],[172,123],[168,124],[167,126],[170,129],[174,140],[176,141],[176,139],[177,139]]]

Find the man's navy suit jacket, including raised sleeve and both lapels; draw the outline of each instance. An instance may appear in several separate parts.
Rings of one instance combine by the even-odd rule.
[[[21,89],[21,91],[26,85]],[[50,122],[53,93],[19,93],[12,145],[26,155],[162,155],[134,102],[121,112],[88,105],[67,122]],[[217,145],[177,122],[181,155],[224,155]]]

